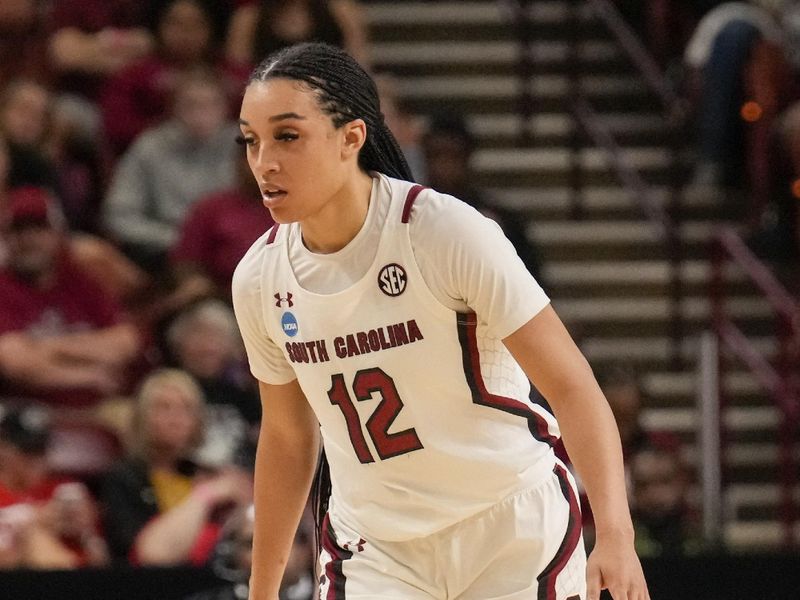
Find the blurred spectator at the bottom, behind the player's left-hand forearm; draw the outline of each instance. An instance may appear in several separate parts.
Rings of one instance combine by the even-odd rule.
[[[278,600],[311,600],[315,598],[314,550],[308,527],[301,524],[295,535],[292,550],[284,571]],[[215,573],[230,583],[201,592],[187,600],[241,600],[249,592],[253,560],[253,506],[232,513],[223,533],[211,566]]]

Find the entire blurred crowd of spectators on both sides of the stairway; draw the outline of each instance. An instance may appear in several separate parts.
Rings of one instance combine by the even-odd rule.
[[[800,3],[617,3],[685,84],[692,185],[745,190],[753,243],[796,252]],[[372,69],[362,13],[0,2],[0,569],[212,565],[232,584],[202,598],[246,597],[260,403],[229,288],[272,221],[235,143],[238,102],[252,67],[300,40]],[[375,76],[416,179],[498,221],[542,280],[520,219],[473,177],[469,119],[414,114],[391,73]],[[680,443],[643,428],[624,368],[601,383],[640,550],[693,551]],[[312,540],[306,523],[286,599],[312,593]]]

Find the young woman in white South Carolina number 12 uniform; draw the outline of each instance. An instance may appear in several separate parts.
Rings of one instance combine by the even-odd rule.
[[[583,599],[588,579],[588,598],[647,599],[591,369],[494,222],[408,181],[370,77],[290,47],[254,71],[240,124],[276,221],[233,281],[263,405],[251,598],[278,597],[321,437],[322,598]],[[593,504],[588,570],[528,379]]]

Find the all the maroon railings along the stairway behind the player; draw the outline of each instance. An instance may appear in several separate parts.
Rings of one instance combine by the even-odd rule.
[[[530,91],[530,81],[536,74],[535,57],[531,49],[532,23],[530,22],[530,9],[533,3],[530,0],[504,0],[502,4],[516,19],[515,22],[519,33],[521,45],[519,75],[521,78],[520,89],[522,90],[520,94],[520,115],[524,123],[524,127],[521,128],[520,143],[527,144],[530,142],[529,119],[535,112],[535,99]],[[652,224],[655,234],[664,241],[667,248],[670,263],[669,294],[672,313],[670,332],[672,340],[671,362],[673,368],[679,369],[683,366],[681,342],[684,337],[683,318],[680,310],[680,301],[683,296],[680,273],[683,249],[679,232],[684,182],[682,157],[686,149],[686,143],[690,138],[687,127],[688,110],[686,104],[661,72],[656,61],[612,2],[609,0],[570,0],[568,6],[571,11],[570,16],[575,24],[570,28],[570,49],[567,63],[569,96],[572,99],[570,110],[576,124],[570,139],[572,149],[570,184],[573,194],[573,217],[579,219],[584,215],[582,205],[584,177],[580,151],[582,149],[583,136],[585,136],[594,145],[606,150],[617,177],[628,192],[639,201],[642,212]],[[612,132],[602,122],[585,98],[580,81],[582,56],[579,42],[580,27],[582,27],[584,18],[587,15],[593,15],[604,23],[608,31],[617,40],[619,47],[626,53],[630,62],[637,68],[649,90],[658,98],[661,112],[670,132],[670,187],[669,200],[666,206],[656,201],[652,188],[626,159]],[[762,385],[770,391],[771,397],[775,400],[784,416],[780,433],[781,518],[785,525],[785,541],[787,544],[792,544],[794,541],[795,522],[795,506],[792,492],[796,474],[792,452],[794,436],[797,435],[798,420],[800,420],[798,415],[800,413],[798,408],[798,388],[800,385],[797,382],[797,378],[800,377],[798,374],[798,371],[800,371],[800,364],[798,364],[800,318],[797,313],[797,305],[763,265],[749,253],[741,239],[734,232],[726,231],[721,234],[716,248],[715,283],[712,288],[716,290],[714,292],[716,298],[714,301],[714,323],[719,341],[725,348],[734,352],[748,365]],[[777,367],[773,367],[765,358],[755,352],[752,344],[742,335],[741,331],[723,316],[722,267],[718,264],[723,260],[722,256],[728,256],[750,274],[750,277],[764,292],[770,301],[770,305],[776,311],[780,323],[778,338],[781,346]],[[707,410],[705,415],[707,419],[712,420],[721,419],[719,415],[725,404],[724,388],[721,385],[724,371],[716,367],[711,368],[711,371],[717,374],[717,379],[712,385],[708,385],[705,390],[706,394],[718,394],[712,400],[716,404],[713,407],[714,410]],[[720,436],[719,439],[715,437],[716,434],[710,435],[709,432],[705,432],[701,435],[701,443],[709,448],[715,444],[724,447],[725,432],[722,430],[721,421],[719,427],[717,430],[717,434]],[[713,459],[713,456],[711,458]],[[717,461],[719,462],[719,458]],[[724,464],[718,464],[716,468],[709,469],[709,472],[713,472],[713,476],[718,481],[716,484],[712,482],[704,489],[704,504],[716,506],[708,515],[706,523],[706,531],[711,537],[720,535],[721,531],[720,494],[724,477],[724,472],[721,470],[723,466]]]

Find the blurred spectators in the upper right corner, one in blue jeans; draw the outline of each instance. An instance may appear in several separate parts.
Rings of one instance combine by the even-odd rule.
[[[690,198],[721,194],[748,244],[800,256],[800,2],[616,0],[688,107]]]

